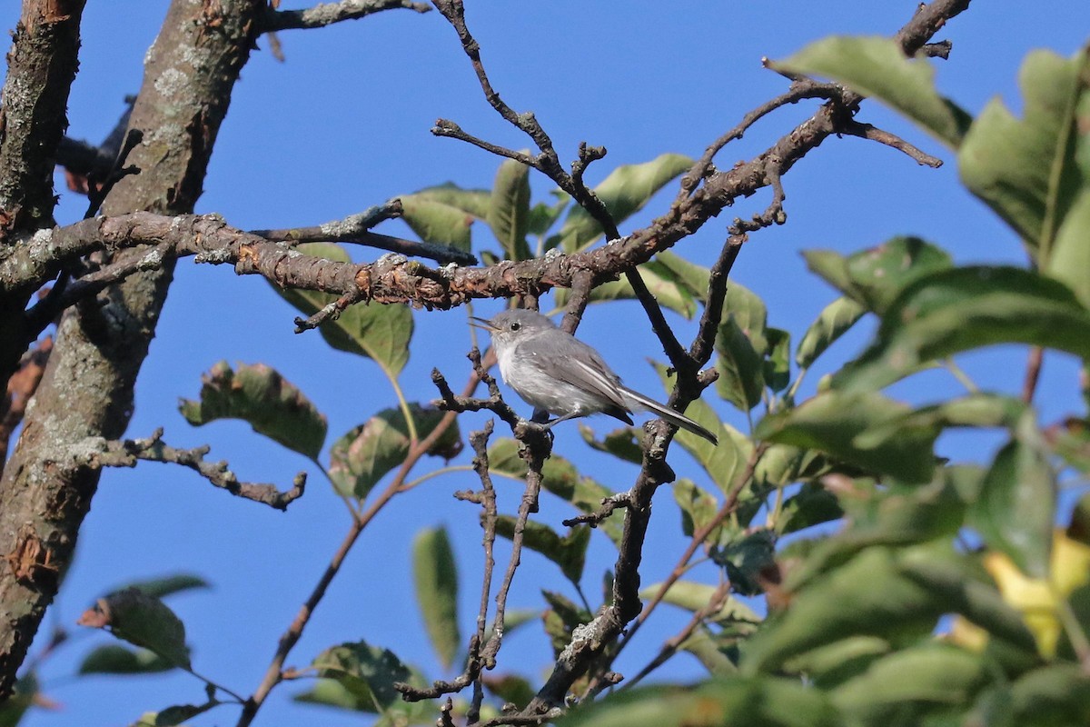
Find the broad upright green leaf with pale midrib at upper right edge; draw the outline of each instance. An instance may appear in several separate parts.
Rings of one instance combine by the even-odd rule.
[[[1018,78],[1024,118],[1016,119],[993,99],[958,154],[961,181],[1021,235],[1046,270],[1056,269],[1049,255],[1056,226],[1085,194],[1086,182],[1075,165],[1075,113],[1086,94],[1086,83],[1079,82],[1085,63],[1085,51],[1070,60],[1047,50],[1030,52]],[[1076,257],[1073,253],[1064,251],[1061,257]]]

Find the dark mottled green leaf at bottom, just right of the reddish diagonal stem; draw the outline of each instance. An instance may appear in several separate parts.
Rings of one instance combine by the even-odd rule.
[[[395,681],[409,681],[409,667],[388,649],[364,641],[346,642],[318,654],[311,666],[318,676],[336,679],[361,704],[386,712],[401,702]]]

